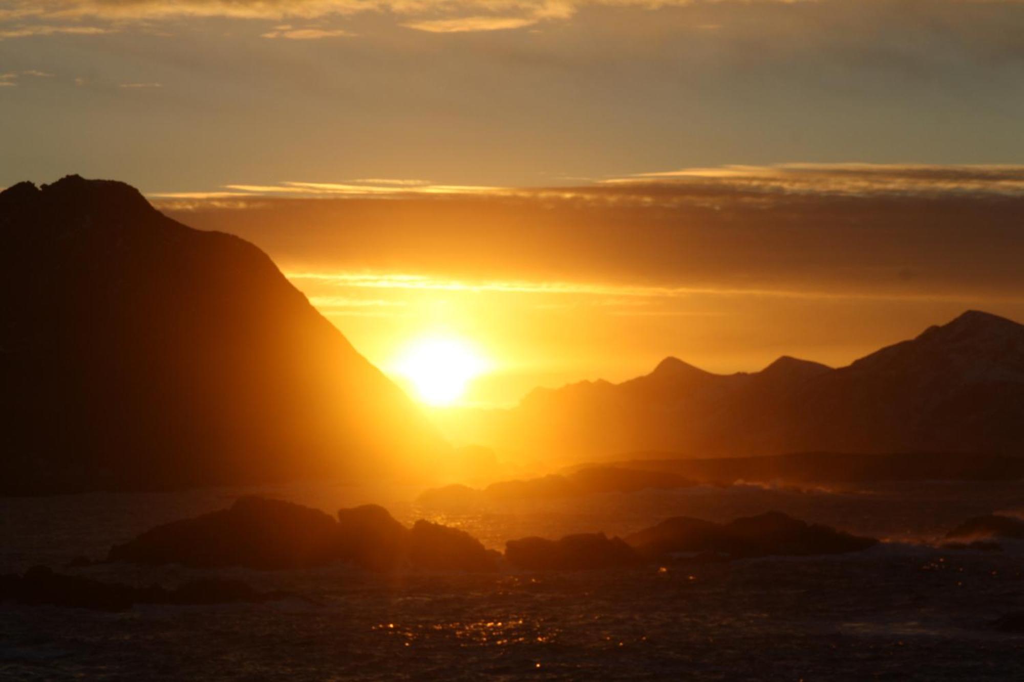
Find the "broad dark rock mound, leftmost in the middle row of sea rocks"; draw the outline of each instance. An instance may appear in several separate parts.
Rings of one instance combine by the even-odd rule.
[[[109,560],[201,568],[304,568],[341,558],[338,524],[324,512],[241,498],[229,509],[157,526],[111,549]]]

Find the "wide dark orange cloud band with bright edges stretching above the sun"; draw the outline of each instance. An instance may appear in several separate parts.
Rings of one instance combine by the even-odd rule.
[[[1024,300],[1024,166],[668,173],[464,195],[392,187],[376,202],[285,185],[296,191],[188,200],[182,219],[255,242],[323,295],[342,287],[566,299]],[[226,201],[247,209],[202,210]]]

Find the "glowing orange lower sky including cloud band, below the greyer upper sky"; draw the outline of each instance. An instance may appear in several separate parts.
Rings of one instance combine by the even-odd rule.
[[[462,401],[490,406],[670,354],[715,372],[837,366],[968,308],[1022,319],[1022,183],[1009,167],[748,168],[158,205],[265,249],[385,371],[418,338],[470,341],[489,367]]]

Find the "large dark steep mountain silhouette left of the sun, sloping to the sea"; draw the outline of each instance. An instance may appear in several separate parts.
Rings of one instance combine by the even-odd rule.
[[[0,193],[0,493],[409,471],[445,445],[258,248],[133,187]]]

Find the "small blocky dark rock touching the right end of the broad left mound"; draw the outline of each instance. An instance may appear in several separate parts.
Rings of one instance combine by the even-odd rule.
[[[402,567],[410,530],[379,505],[338,510],[339,551],[343,561],[371,570]]]

